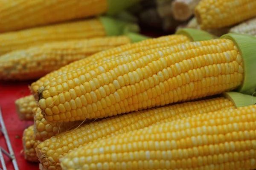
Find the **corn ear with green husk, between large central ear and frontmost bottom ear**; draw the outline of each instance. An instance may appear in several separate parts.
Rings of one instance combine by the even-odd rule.
[[[66,155],[69,151],[85,146],[93,141],[142,129],[143,127],[159,124],[160,122],[170,122],[196,114],[247,106],[250,105],[252,99],[250,95],[236,92],[229,92],[224,94],[224,96],[152,108],[140,113],[134,112],[112,116],[108,119],[87,123],[75,130],[60,133],[58,136],[45,140],[38,145],[36,149],[37,156],[46,169],[60,169],[59,158]]]

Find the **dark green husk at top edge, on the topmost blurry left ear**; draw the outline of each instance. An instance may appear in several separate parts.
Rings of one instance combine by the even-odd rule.
[[[108,15],[114,15],[123,9],[126,9],[141,0],[108,0]]]

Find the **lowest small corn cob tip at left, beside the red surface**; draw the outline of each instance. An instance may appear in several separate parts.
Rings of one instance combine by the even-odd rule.
[[[39,162],[35,153],[35,147],[39,144],[39,141],[34,137],[34,126],[31,125],[23,132],[22,142],[24,147],[25,159],[32,162]]]

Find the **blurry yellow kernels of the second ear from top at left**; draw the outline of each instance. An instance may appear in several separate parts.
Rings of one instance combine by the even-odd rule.
[[[49,42],[106,37],[99,19],[59,23],[0,34],[0,55]],[[15,40],[15,41],[14,41]]]

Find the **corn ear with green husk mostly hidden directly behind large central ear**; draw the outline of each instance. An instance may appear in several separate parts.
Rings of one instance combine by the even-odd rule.
[[[212,35],[204,32],[198,31],[194,29],[184,29],[181,31],[177,31],[176,35],[163,36],[159,38],[144,40],[141,42],[135,42],[132,44],[122,45],[120,47],[116,47],[110,50],[102,51],[97,54],[94,54],[86,59],[82,59],[69,65],[66,65],[60,68],[57,71],[53,71],[50,74],[42,77],[38,81],[32,83],[31,89],[32,93],[37,94],[37,90],[41,87],[44,82],[57,77],[60,74],[67,73],[69,71],[74,70],[75,68],[80,68],[84,65],[90,65],[91,67],[98,67],[102,63],[109,62],[110,59],[114,59],[118,56],[125,56],[133,53],[143,52],[149,49],[156,49],[161,47],[169,47],[171,45],[185,43],[189,41],[197,41],[197,40],[209,40],[213,38]]]

